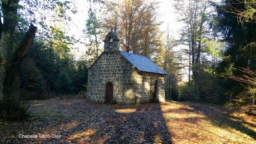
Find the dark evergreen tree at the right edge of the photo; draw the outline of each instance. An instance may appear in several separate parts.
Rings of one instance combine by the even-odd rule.
[[[217,74],[221,76],[243,77],[243,70],[236,68],[256,68],[256,24],[253,22],[237,22],[237,13],[230,13],[230,10],[244,12],[244,3],[236,3],[236,0],[225,0],[223,3],[216,4],[217,12],[214,30],[221,33],[225,42],[225,52],[223,60],[216,67]],[[232,9],[230,9],[232,8]],[[225,93],[232,100],[243,98],[243,92],[248,91],[248,86],[252,84],[244,83],[243,86],[233,80],[225,79]]]

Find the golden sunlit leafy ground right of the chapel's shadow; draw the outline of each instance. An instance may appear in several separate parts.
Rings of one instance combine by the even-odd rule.
[[[173,143],[256,143],[251,115],[189,102],[163,103],[161,110]]]

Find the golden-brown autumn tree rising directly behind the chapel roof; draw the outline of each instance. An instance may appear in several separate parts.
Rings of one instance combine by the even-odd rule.
[[[117,21],[121,49],[156,60],[162,45],[157,4],[156,1],[132,0],[113,7],[115,15],[110,13],[103,23],[109,28]]]

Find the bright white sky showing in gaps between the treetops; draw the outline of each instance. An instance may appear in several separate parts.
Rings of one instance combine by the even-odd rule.
[[[172,0],[157,0],[159,1],[159,10],[157,11],[160,15],[159,21],[162,22],[160,29],[163,32],[167,31],[167,27],[169,26],[170,33],[173,33],[175,38],[179,37],[179,29],[180,24],[176,20],[175,10],[173,8]],[[76,1],[77,13],[75,15],[71,15],[72,22],[70,23],[69,34],[74,35],[75,38],[83,38],[83,29],[85,28],[86,19],[88,18],[88,1]],[[79,47],[79,49],[74,49],[72,51],[77,57],[83,55],[84,51],[86,51],[86,47],[81,44],[76,44],[75,47]]]

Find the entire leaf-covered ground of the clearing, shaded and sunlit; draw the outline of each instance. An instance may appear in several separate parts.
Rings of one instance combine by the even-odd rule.
[[[256,143],[256,108],[250,109],[35,100],[28,120],[0,121],[0,143]],[[34,138],[19,138],[28,135]]]

